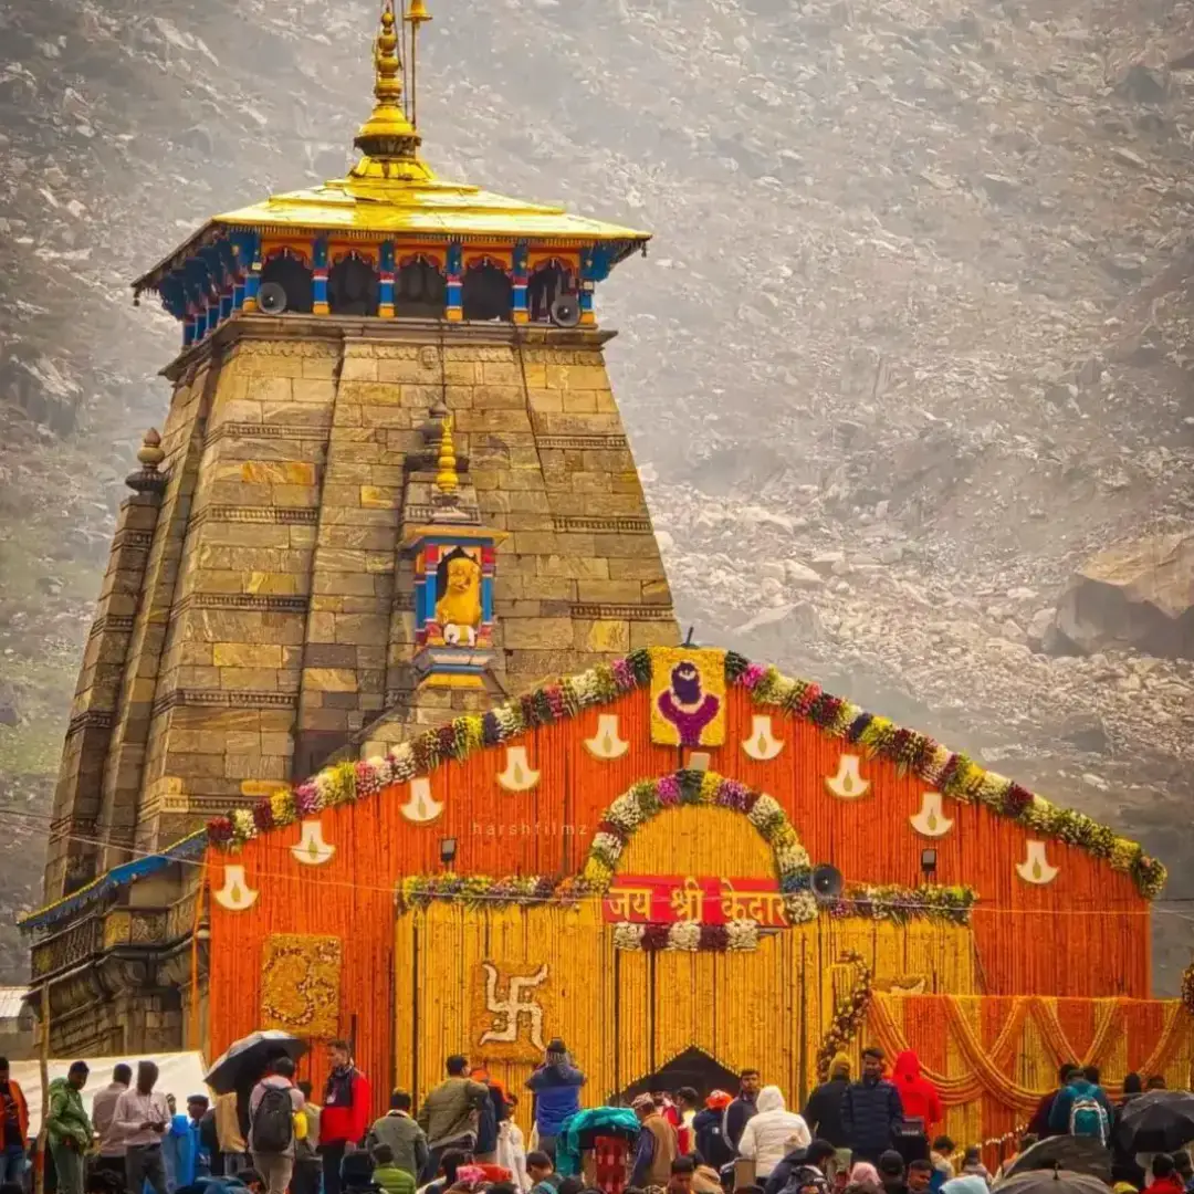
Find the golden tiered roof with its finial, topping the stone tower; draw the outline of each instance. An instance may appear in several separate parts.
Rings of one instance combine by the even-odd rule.
[[[430,19],[421,4],[405,18],[416,32]],[[425,236],[432,240],[527,240],[583,247],[616,244],[614,260],[646,244],[651,234],[571,215],[561,207],[525,203],[462,183],[436,178],[419,156],[421,137],[402,105],[402,63],[393,0],[382,12],[374,43],[374,110],[355,144],[362,158],[346,178],[304,191],[273,195],[208,221],[185,245],[134,283],[141,291],[209,244],[221,229],[260,233]]]

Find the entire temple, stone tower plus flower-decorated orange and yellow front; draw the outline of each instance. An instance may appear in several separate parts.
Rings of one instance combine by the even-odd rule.
[[[1159,863],[682,645],[595,304],[648,234],[437,178],[425,19],[382,17],[347,177],[135,283],[181,344],[24,922],[54,1055],[284,1028],[420,1097],[450,1053],[519,1089],[561,1036],[589,1103],[752,1065],[794,1101],[878,1041],[966,1141],[1061,1060],[1184,1085]]]

